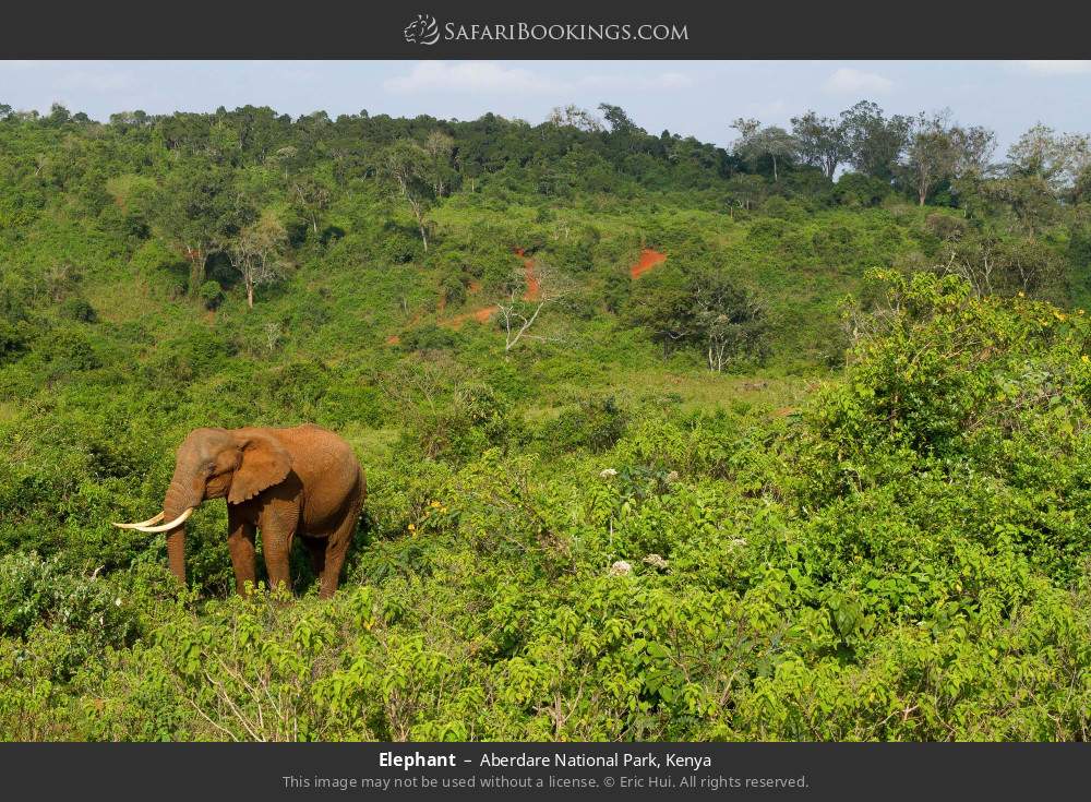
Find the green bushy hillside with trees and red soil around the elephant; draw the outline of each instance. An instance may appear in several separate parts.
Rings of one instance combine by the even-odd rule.
[[[1086,740],[1088,136],[734,128],[0,104],[0,738]],[[110,526],[304,421],[333,600]]]

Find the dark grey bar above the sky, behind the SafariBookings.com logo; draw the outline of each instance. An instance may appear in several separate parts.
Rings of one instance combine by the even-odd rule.
[[[826,0],[780,3],[583,2],[551,0],[146,0],[9,3],[0,19],[5,59],[1088,59],[1087,3]],[[406,40],[419,14],[434,17],[433,44]],[[456,33],[448,37],[448,25]],[[477,38],[457,32],[478,25]],[[480,34],[504,27],[504,35]],[[528,33],[519,38],[519,26]],[[530,31],[585,26],[535,38]],[[596,40],[586,26],[630,26],[630,38]],[[640,25],[685,28],[684,39],[640,40]],[[601,34],[606,36],[607,34]],[[514,36],[515,38],[509,38]],[[2,87],[0,87],[2,88]]]

